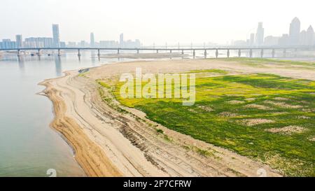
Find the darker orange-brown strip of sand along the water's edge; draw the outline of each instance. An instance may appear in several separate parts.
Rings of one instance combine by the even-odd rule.
[[[52,101],[54,108],[55,118],[50,126],[62,134],[72,146],[75,151],[75,159],[87,176],[121,176],[118,169],[106,157],[104,151],[86,136],[75,120],[65,115],[66,104],[51,81],[45,80],[40,83],[46,87],[43,93]]]

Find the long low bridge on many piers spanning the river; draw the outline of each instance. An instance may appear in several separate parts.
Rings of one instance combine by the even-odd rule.
[[[97,50],[97,56],[101,56],[101,50],[116,50],[117,54],[120,54],[120,51],[122,50],[130,50],[135,51],[139,54],[139,51],[155,51],[156,53],[159,53],[159,51],[166,51],[172,53],[173,51],[181,52],[183,55],[185,51],[192,51],[193,57],[195,58],[196,51],[203,51],[204,57],[207,58],[207,51],[215,50],[215,56],[218,57],[220,50],[226,51],[226,57],[230,57],[230,51],[234,50],[237,51],[237,55],[241,57],[241,52],[249,52],[249,57],[253,57],[253,50],[260,51],[260,57],[264,56],[264,52],[267,50],[271,50],[272,57],[275,57],[276,52],[280,52],[283,54],[283,57],[286,57],[286,52],[288,50],[293,50],[294,52],[297,52],[298,50],[315,50],[314,46],[297,46],[297,47],[219,47],[219,48],[6,48],[6,49],[0,49],[0,51],[16,51],[18,53],[18,56],[21,56],[21,51],[27,51],[27,50],[35,50],[38,51],[38,56],[41,56],[41,50],[57,50],[57,55],[61,56],[61,50],[78,50],[78,57],[81,56],[80,51],[81,50]]]

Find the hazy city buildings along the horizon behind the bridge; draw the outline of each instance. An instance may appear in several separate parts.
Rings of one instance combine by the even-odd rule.
[[[181,43],[177,43],[180,47]],[[204,47],[217,45],[215,43],[202,43]],[[315,34],[314,29],[309,25],[307,29],[301,29],[301,22],[298,17],[294,17],[289,24],[288,33],[282,36],[265,36],[265,28],[263,22],[258,22],[258,27],[255,33],[251,33],[250,37],[244,40],[231,41],[230,45],[262,47],[262,46],[297,46],[297,45],[314,45]],[[183,45],[183,44],[181,44]],[[185,44],[184,44],[185,45]],[[188,44],[186,44],[187,46]],[[190,43],[193,46],[193,43]],[[196,44],[195,44],[196,45]],[[229,44],[226,44],[229,45]],[[22,34],[15,35],[15,41],[10,38],[0,41],[0,48],[139,48],[143,46],[139,39],[135,41],[125,41],[124,34],[121,33],[118,41],[116,40],[99,40],[95,41],[94,32],[90,33],[90,41],[60,41],[59,24],[52,24],[52,37],[28,37],[23,41]],[[155,47],[155,43],[152,45]],[[174,46],[174,45],[173,45]],[[167,43],[165,43],[165,48]]]

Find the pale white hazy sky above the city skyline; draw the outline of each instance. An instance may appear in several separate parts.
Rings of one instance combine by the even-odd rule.
[[[59,24],[61,41],[139,38],[145,45],[246,40],[259,21],[265,36],[288,33],[293,17],[301,28],[315,27],[314,0],[1,0],[0,39],[22,34],[52,36]]]

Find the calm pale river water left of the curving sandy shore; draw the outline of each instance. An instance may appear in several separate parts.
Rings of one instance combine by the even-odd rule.
[[[0,59],[0,176],[85,176],[73,159],[71,147],[49,127],[54,115],[52,103],[36,93],[46,78],[62,71],[99,66],[117,59],[98,60],[93,52],[57,56],[6,55]]]

